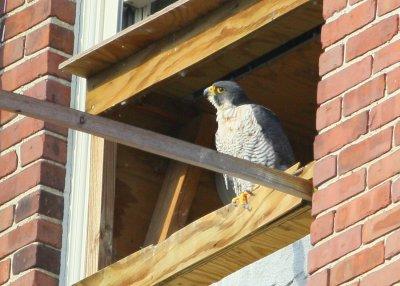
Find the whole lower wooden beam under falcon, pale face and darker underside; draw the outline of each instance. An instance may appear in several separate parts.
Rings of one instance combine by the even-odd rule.
[[[209,285],[309,233],[298,198],[261,187],[251,205],[225,206],[76,285]]]

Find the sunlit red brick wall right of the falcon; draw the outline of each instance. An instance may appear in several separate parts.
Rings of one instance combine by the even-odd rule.
[[[311,285],[400,281],[400,0],[324,0]]]

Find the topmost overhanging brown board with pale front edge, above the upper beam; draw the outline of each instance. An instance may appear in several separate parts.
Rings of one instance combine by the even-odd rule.
[[[64,71],[90,77],[189,25],[227,0],[178,0],[116,35],[60,64]]]

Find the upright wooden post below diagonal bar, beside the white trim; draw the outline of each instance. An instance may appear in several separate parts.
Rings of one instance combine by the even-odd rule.
[[[86,275],[113,262],[117,144],[91,137]]]

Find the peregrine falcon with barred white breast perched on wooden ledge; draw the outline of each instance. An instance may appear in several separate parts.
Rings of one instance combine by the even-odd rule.
[[[203,95],[217,110],[217,151],[280,170],[293,165],[293,151],[279,119],[269,109],[250,102],[237,83],[216,82]],[[217,175],[216,184],[224,203],[240,201],[249,208],[253,183],[224,174]]]

